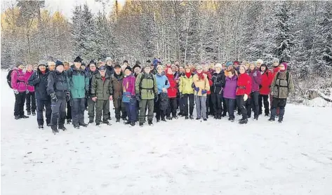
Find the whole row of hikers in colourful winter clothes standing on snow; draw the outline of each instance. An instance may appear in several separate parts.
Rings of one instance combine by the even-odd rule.
[[[8,83],[15,93],[15,119],[37,115],[39,128],[46,124],[53,133],[66,130],[65,120],[74,128],[88,123],[110,125],[109,101],[113,101],[116,121],[135,126],[146,122],[152,126],[154,113],[157,122],[178,119],[206,121],[208,116],[222,119],[228,115],[235,120],[234,112],[241,115],[239,123],[248,123],[260,114],[284,119],[286,100],[294,85],[286,62],[277,58],[269,69],[263,60],[255,62],[202,62],[199,65],[180,65],[178,60],[166,62],[148,60],[145,65],[127,60],[122,65],[111,58],[88,65],[80,57],[73,63],[51,59],[41,60],[35,67],[18,63],[8,74]],[[26,69],[23,72],[23,69]],[[270,98],[269,98],[270,96]],[[269,103],[270,99],[270,103]]]

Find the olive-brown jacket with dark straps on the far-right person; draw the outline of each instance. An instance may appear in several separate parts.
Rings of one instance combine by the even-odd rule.
[[[294,83],[291,73],[288,73],[288,81],[287,71],[279,72],[279,75],[276,74],[272,81],[271,89],[273,91],[273,97],[287,98],[289,93],[294,92]]]

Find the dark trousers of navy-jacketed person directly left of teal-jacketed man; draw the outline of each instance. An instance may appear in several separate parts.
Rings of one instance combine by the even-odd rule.
[[[58,101],[52,102],[51,108],[52,108],[51,128],[56,129],[57,126],[61,128],[65,124],[66,100],[58,99]]]

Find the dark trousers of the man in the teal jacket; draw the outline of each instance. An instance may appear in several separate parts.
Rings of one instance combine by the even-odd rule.
[[[84,109],[86,98],[72,99],[72,124],[78,125],[84,123]]]

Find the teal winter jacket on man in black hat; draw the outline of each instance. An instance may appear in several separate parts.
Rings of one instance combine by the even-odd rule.
[[[86,97],[86,91],[88,91],[89,86],[88,76],[84,72],[84,69],[68,69],[67,77],[72,98]]]

